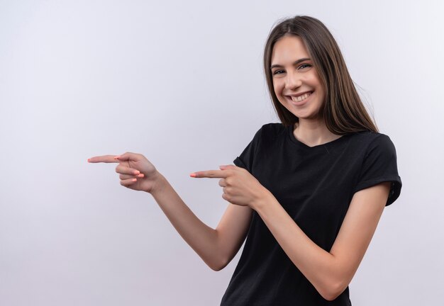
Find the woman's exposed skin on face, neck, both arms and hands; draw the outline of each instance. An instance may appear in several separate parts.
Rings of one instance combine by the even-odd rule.
[[[279,101],[299,117],[294,130],[296,139],[310,147],[337,139],[318,116],[324,96],[321,82],[310,60],[294,65],[296,60],[310,58],[300,38],[284,36],[274,45],[274,91]],[[303,66],[302,64],[307,64]],[[309,66],[311,64],[311,66]],[[304,91],[313,94],[301,105],[294,105],[287,96]],[[347,288],[362,261],[389,195],[390,183],[358,191],[330,251],[316,245],[274,198],[247,170],[234,165],[218,170],[197,171],[194,178],[219,179],[222,198],[229,205],[216,229],[199,220],[160,174],[141,154],[127,152],[119,157],[92,157],[91,163],[118,163],[116,172],[121,185],[146,191],[168,217],[177,232],[209,267],[218,271],[225,267],[245,240],[251,212],[255,210],[270,229],[279,245],[301,273],[326,300],[334,300]]]

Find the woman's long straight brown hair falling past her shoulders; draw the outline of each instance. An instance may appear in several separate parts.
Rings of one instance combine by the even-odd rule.
[[[274,26],[264,52],[264,69],[274,109],[285,126],[294,125],[299,118],[287,110],[277,99],[270,69],[274,43],[284,35],[299,36],[311,55],[313,64],[326,91],[326,100],[321,115],[328,130],[336,135],[370,130],[378,132],[377,126],[367,113],[345,60],[330,31],[321,21],[310,16],[288,18]]]

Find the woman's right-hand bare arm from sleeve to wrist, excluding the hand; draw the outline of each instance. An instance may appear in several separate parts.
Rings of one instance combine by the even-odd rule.
[[[252,208],[318,293],[334,300],[347,288],[364,257],[387,203],[389,186],[380,183],[355,193],[330,252],[311,241],[271,193]]]

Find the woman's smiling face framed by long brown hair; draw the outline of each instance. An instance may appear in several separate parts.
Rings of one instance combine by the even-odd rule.
[[[279,102],[300,120],[321,120],[325,93],[304,42],[285,35],[275,42],[271,72]]]

